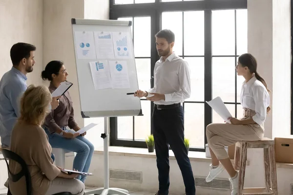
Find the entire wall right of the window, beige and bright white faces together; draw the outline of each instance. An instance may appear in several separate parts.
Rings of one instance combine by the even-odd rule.
[[[261,14],[260,14],[260,10]],[[291,129],[291,2],[248,0],[248,52],[271,93],[265,137],[289,137]]]

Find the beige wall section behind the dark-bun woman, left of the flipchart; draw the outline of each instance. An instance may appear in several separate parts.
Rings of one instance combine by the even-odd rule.
[[[69,89],[73,101],[74,118],[79,126],[83,127],[71,19],[84,18],[84,0],[43,0],[43,2],[43,68],[51,60],[64,62],[69,74],[67,80],[74,83]]]

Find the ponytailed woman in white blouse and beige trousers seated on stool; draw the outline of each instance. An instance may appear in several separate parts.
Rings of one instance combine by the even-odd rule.
[[[264,137],[264,122],[270,108],[270,95],[267,83],[257,73],[257,62],[251,54],[239,57],[237,66],[238,76],[243,76],[240,101],[243,107],[243,118],[230,117],[230,123],[209,124],[207,126],[207,139],[211,154],[209,176],[207,182],[212,181],[224,169],[230,175],[232,186],[231,195],[238,194],[238,171],[236,171],[225,150],[225,146],[237,141],[257,141]],[[219,164],[221,162],[221,164]]]

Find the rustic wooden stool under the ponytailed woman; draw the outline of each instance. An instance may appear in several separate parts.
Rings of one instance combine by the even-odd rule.
[[[248,148],[264,149],[265,188],[243,188]],[[234,168],[239,170],[238,195],[278,195],[274,140],[238,141],[235,145]]]

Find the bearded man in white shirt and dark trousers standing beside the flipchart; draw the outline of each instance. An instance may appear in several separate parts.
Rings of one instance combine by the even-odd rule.
[[[187,61],[173,52],[175,35],[170,30],[156,34],[156,45],[161,57],[154,68],[154,88],[138,90],[134,96],[155,104],[153,135],[159,172],[159,191],[156,195],[168,195],[170,145],[181,170],[186,195],[195,195],[192,168],[184,145],[184,112],[181,103],[190,97],[190,69]]]

